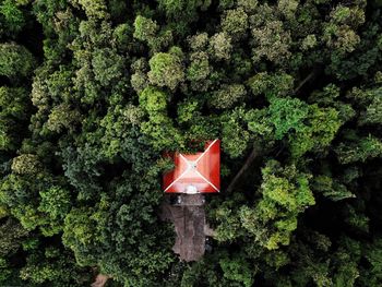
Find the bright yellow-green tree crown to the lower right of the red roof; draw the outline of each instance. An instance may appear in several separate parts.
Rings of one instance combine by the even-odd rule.
[[[273,250],[289,243],[290,234],[297,228],[298,214],[315,201],[309,188],[310,176],[299,174],[295,166],[283,168],[276,160],[270,160],[262,175],[262,199],[253,211],[241,210],[241,220],[260,244]],[[258,225],[249,225],[251,216],[256,218]],[[270,230],[265,227],[268,222],[273,223]]]

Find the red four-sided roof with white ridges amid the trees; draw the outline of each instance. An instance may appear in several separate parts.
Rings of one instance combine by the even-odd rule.
[[[168,193],[213,193],[220,191],[220,141],[207,142],[203,153],[172,156],[175,169],[164,175]]]

